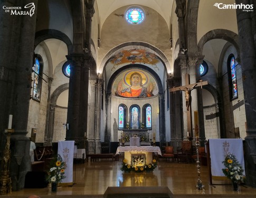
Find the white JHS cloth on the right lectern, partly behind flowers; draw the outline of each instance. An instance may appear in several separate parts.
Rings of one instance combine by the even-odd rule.
[[[244,170],[243,141],[242,139],[209,139],[211,169],[213,176],[225,176],[222,163],[227,153],[235,155]],[[245,175],[245,172],[243,172]]]

